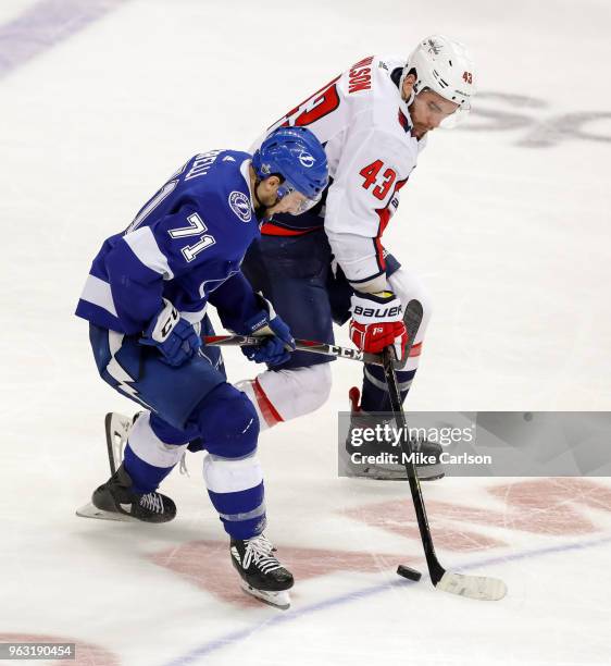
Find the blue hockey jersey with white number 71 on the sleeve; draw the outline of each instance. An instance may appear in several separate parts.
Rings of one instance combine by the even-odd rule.
[[[135,334],[161,310],[162,298],[194,324],[203,319],[210,300],[234,330],[232,323],[260,309],[240,272],[246,250],[260,233],[250,159],[235,150],[192,157],[124,232],[104,242],[76,314]]]

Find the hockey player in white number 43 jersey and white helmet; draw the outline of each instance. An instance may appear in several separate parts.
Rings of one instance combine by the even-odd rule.
[[[403,399],[417,369],[431,301],[419,279],[387,252],[382,237],[428,133],[454,125],[469,113],[474,78],[466,49],[434,35],[423,39],[407,61],[361,60],[269,128],[311,130],[325,146],[329,186],[306,213],[267,220],[242,270],[296,337],[333,342],[332,322],[341,324],[351,316],[352,341],[371,353],[392,344],[401,357],[407,342],[402,308],[417,298],[424,319],[398,372]],[[328,360],[297,351],[287,362],[241,383],[262,428],[309,414],[326,402]],[[350,399],[361,415],[360,425],[365,424],[363,415],[372,414],[373,424],[373,412],[390,411],[382,369],[365,366],[362,395],[354,387]],[[438,445],[417,445],[427,456],[440,453]],[[404,469],[371,467],[353,473],[400,478]],[[434,466],[419,468],[419,474],[426,479],[442,472]]]

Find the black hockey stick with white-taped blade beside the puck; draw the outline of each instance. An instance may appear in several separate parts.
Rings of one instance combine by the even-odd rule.
[[[408,329],[408,348],[406,355],[409,354],[411,345],[420,328],[422,321],[422,304],[417,300],[410,300],[406,308],[406,326]],[[464,576],[462,574],[452,574],[446,571],[446,569],[439,564],[435,547],[433,545],[433,538],[431,535],[431,528],[428,527],[428,520],[426,518],[426,509],[424,507],[424,498],[422,496],[422,490],[420,488],[420,481],[414,464],[411,461],[411,445],[409,437],[404,436],[408,431],[406,422],[406,415],[403,412],[403,406],[401,400],[401,393],[397,382],[397,374],[395,372],[395,354],[392,347],[387,347],[383,355],[384,360],[384,374],[386,383],[388,385],[388,393],[390,395],[390,405],[395,412],[395,420],[399,432],[403,433],[400,439],[401,453],[403,458],[403,465],[408,472],[408,480],[410,482],[410,491],[412,493],[412,501],[415,509],[417,519],[417,527],[420,530],[420,536],[422,539],[422,545],[424,547],[424,555],[426,557],[426,565],[428,566],[428,574],[431,581],[437,588],[444,592],[450,592],[452,594],[459,594],[460,596],[467,596],[470,599],[476,599],[481,601],[497,601],[502,599],[507,594],[507,585],[497,578],[488,578],[485,576]],[[420,572],[414,569],[410,569],[403,565],[399,565],[397,569],[399,576],[403,578],[410,578],[412,580],[420,579]]]

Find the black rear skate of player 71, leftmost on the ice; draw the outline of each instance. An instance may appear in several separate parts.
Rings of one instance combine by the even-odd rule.
[[[123,465],[93,491],[91,504],[98,515],[88,518],[167,522],[176,516],[176,505],[170,497],[157,492],[140,495],[132,491],[132,479]]]

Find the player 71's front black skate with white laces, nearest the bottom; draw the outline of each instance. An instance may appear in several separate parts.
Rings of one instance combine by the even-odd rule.
[[[232,563],[248,594],[286,610],[290,606],[288,590],[295,582],[290,571],[274,557],[275,548],[263,534],[250,539],[233,539]]]

